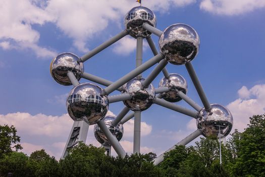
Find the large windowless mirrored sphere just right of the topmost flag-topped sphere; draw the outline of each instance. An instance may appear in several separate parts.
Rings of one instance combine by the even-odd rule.
[[[197,32],[185,24],[169,26],[159,39],[161,53],[174,65],[193,60],[199,52],[199,44]]]

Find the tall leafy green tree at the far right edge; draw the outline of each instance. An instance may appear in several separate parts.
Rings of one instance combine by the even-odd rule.
[[[250,117],[250,124],[240,135],[232,174],[265,176],[265,114]]]

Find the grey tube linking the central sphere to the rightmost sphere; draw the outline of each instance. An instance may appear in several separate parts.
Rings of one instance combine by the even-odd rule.
[[[169,108],[171,110],[180,112],[182,114],[188,115],[190,117],[197,118],[198,112],[183,108],[183,107],[181,107],[179,105],[176,105],[174,103],[170,103],[170,102],[165,101],[163,99],[155,98],[153,103],[155,103],[157,105],[160,105],[160,106],[163,106],[165,108]]]

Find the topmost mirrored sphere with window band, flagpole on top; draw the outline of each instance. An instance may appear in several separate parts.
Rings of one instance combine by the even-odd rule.
[[[139,6],[132,8],[126,15],[124,25],[129,34],[134,37],[147,37],[151,35],[149,31],[142,27],[143,23],[148,23],[153,27],[156,26],[154,13],[145,7]]]

